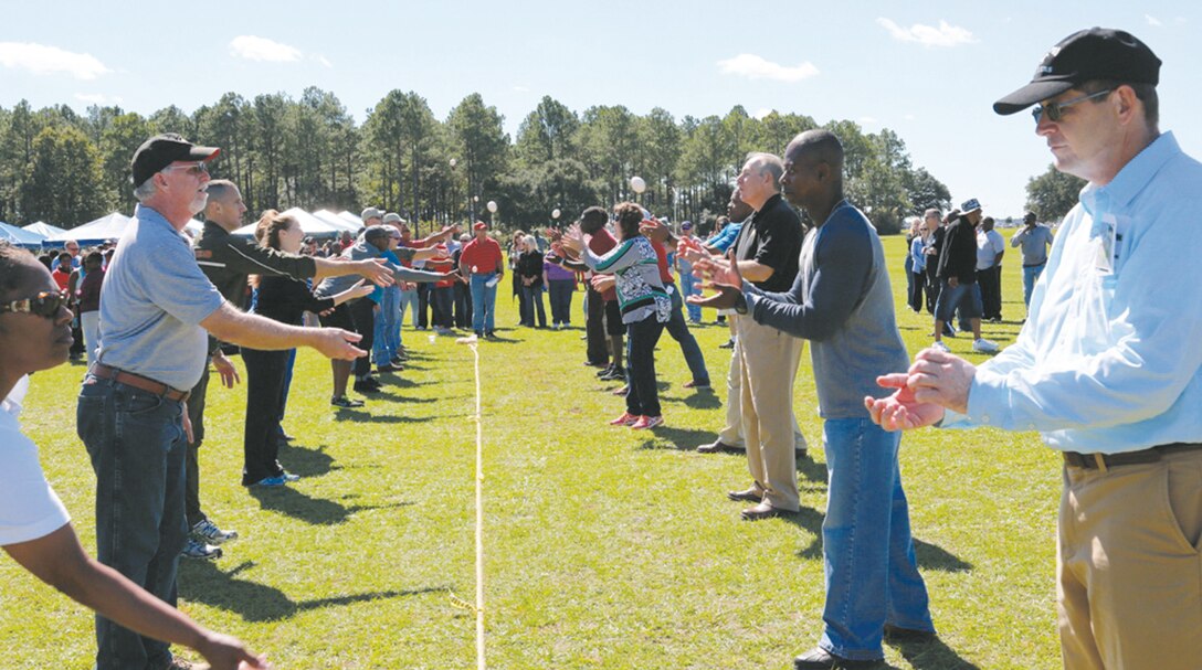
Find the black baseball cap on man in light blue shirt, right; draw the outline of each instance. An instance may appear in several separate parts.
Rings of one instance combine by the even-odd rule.
[[[1079,30],[1052,47],[1031,83],[994,102],[993,110],[1022,112],[1094,79],[1156,85],[1160,59],[1130,32],[1108,28]]]

